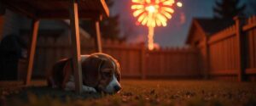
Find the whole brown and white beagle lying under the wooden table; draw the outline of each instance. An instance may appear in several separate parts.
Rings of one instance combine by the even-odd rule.
[[[83,92],[116,93],[120,86],[120,66],[105,53],[81,55]],[[48,86],[66,91],[75,90],[72,59],[61,59],[48,73]]]

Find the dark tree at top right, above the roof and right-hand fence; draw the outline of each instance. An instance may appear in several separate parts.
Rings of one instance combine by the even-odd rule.
[[[240,0],[216,0],[216,6],[213,8],[214,18],[233,19],[236,15],[243,15],[246,5],[240,2]]]

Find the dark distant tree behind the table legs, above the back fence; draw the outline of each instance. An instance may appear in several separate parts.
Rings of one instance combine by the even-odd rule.
[[[113,7],[113,0],[105,0],[108,8]],[[95,27],[92,27],[94,23],[91,21],[82,21],[80,26],[88,31],[91,36],[95,37]],[[119,36],[119,14],[111,15],[108,18],[101,21],[101,32],[103,38],[125,40],[124,37]]]

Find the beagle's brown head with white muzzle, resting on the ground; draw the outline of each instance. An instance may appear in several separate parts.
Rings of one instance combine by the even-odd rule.
[[[82,63],[83,83],[94,86],[100,92],[119,92],[120,66],[108,54],[94,53]]]

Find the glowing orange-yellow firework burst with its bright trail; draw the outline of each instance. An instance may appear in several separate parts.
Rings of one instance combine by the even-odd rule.
[[[174,0],[131,0],[133,16],[141,25],[148,26],[148,49],[154,49],[154,27],[166,26],[172,19]],[[179,6],[182,3],[177,3]]]

